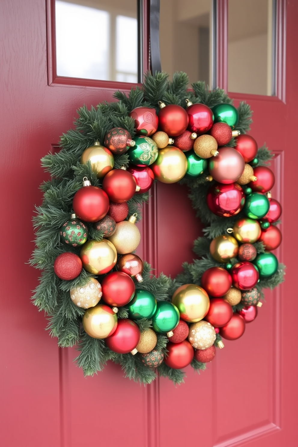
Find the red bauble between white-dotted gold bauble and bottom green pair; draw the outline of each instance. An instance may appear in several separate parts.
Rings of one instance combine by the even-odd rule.
[[[101,281],[102,299],[110,306],[125,306],[135,292],[135,285],[129,275],[123,272],[107,274]]]

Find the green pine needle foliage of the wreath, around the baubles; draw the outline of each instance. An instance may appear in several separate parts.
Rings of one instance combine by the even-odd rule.
[[[124,375],[131,380],[143,384],[150,384],[157,375],[167,377],[174,384],[183,383],[185,372],[168,367],[162,363],[157,369],[146,367],[140,354],[117,354],[107,348],[104,340],[89,337],[82,327],[82,316],[84,309],[72,303],[69,292],[72,287],[83,286],[88,278],[93,275],[85,270],[71,281],[59,279],[54,272],[55,258],[63,252],[71,251],[80,254],[79,247],[68,247],[60,240],[59,231],[63,223],[69,220],[71,214],[72,199],[77,190],[82,187],[83,177],[88,177],[92,185],[101,187],[101,179],[97,179],[96,173],[92,171],[90,163],[80,164],[80,158],[86,148],[92,146],[96,141],[104,144],[105,134],[113,127],[122,127],[135,135],[134,119],[130,112],[135,107],[147,106],[158,111],[159,101],[167,104],[177,104],[186,108],[186,99],[193,103],[203,103],[209,107],[227,103],[232,100],[221,89],[209,90],[208,86],[201,81],[192,84],[189,90],[189,78],[186,73],[174,73],[169,80],[165,72],[145,74],[142,87],[136,86],[130,93],[115,92],[117,101],[103,102],[92,106],[90,110],[83,105],[77,110],[77,118],[74,129],[70,129],[60,138],[60,151],[55,154],[47,154],[41,160],[43,169],[50,174],[51,179],[40,186],[43,192],[42,205],[36,207],[33,217],[35,228],[35,249],[29,261],[31,266],[41,270],[41,276],[36,289],[33,291],[32,301],[40,311],[44,311],[48,318],[47,330],[52,337],[57,337],[58,345],[61,347],[76,346],[79,354],[75,359],[76,364],[82,368],[84,375],[94,375],[101,371],[105,364],[111,360],[122,368]],[[239,123],[237,129],[241,133],[249,131],[252,123],[252,112],[245,102],[238,106]],[[232,138],[227,144],[235,146]],[[265,146],[257,153],[258,165],[266,165],[272,158],[271,152]],[[114,156],[114,168],[122,165],[128,166],[127,154]],[[203,236],[193,242],[193,251],[196,259],[192,263],[184,262],[181,272],[176,278],[168,278],[163,273],[158,276],[146,260],[144,261],[143,283],[136,283],[136,288],[150,291],[157,301],[172,298],[173,292],[182,284],[201,284],[201,275],[213,266],[221,266],[210,255],[211,240],[221,234],[226,234],[227,228],[232,228],[235,221],[244,217],[241,211],[237,216],[221,218],[214,215],[206,204],[207,190],[214,182],[206,181],[206,176],[201,175],[196,179],[184,177],[181,184],[189,187],[189,198],[197,217],[205,225]],[[138,219],[141,218],[142,204],[148,200],[148,194],[135,194],[128,202],[130,215],[135,212]],[[101,240],[102,232],[95,230],[90,223],[86,223],[89,237]],[[255,244],[257,253],[264,253],[264,245],[261,242]],[[238,260],[232,259],[235,264]],[[153,266],[154,267],[154,266]],[[263,290],[273,289],[284,280],[285,266],[279,264],[277,272],[269,277],[260,279],[257,288],[263,296]],[[101,280],[102,277],[98,279]],[[242,304],[234,307],[234,311],[240,310]],[[128,309],[121,307],[118,310],[118,319],[128,317]],[[137,324],[141,331],[151,328],[152,321],[148,319],[138,320]],[[221,337],[217,334],[215,346]],[[162,350],[167,355],[168,338],[164,334],[157,334],[156,349]],[[191,366],[194,371],[204,370],[206,365],[193,359]]]

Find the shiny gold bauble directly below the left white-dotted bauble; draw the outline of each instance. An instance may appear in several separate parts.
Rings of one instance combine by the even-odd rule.
[[[106,338],[115,332],[118,324],[117,315],[109,306],[97,304],[87,309],[83,315],[83,328],[90,337]]]

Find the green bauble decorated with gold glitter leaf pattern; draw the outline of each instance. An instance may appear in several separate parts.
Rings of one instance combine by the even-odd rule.
[[[149,166],[158,156],[158,147],[150,137],[134,137],[135,145],[127,152],[130,163],[137,166]]]

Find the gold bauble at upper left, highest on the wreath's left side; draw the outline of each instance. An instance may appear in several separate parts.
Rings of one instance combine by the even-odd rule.
[[[92,171],[96,172],[97,178],[105,177],[113,169],[114,157],[109,149],[101,146],[98,141],[94,146],[85,149],[81,156],[81,164],[91,162]]]

